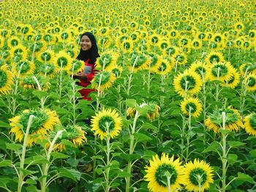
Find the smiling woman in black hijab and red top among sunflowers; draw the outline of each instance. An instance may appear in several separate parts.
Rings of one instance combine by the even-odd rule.
[[[94,90],[88,89],[86,87],[88,85],[91,85],[91,80],[94,78],[94,64],[98,57],[98,47],[94,35],[90,32],[82,34],[80,37],[80,53],[77,59],[85,61],[85,67],[83,72],[75,74],[75,78],[78,78],[80,80],[80,82],[78,82],[78,85],[84,87],[79,91],[82,95],[82,99],[91,101],[89,93]]]

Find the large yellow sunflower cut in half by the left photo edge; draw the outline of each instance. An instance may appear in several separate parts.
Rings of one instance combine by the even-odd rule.
[[[6,65],[0,66],[0,93],[8,93],[12,90],[12,73]]]

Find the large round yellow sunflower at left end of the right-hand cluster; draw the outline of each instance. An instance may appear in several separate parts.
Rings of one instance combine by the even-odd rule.
[[[188,96],[199,93],[203,85],[200,75],[190,70],[185,70],[184,73],[178,74],[174,77],[173,85],[175,91],[180,96]]]

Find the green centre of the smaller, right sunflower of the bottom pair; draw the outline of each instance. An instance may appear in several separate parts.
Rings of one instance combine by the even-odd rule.
[[[193,185],[203,185],[206,183],[207,180],[207,174],[206,171],[201,168],[195,168],[192,169],[192,171],[189,173],[189,181]]]

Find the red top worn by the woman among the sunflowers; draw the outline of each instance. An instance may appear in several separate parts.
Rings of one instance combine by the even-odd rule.
[[[91,97],[89,97],[89,93],[95,91],[94,89],[86,88],[88,85],[91,85],[91,80],[94,78],[95,71],[94,71],[94,64],[89,64],[89,59],[85,62],[84,73],[86,74],[86,80],[80,80],[78,85],[84,87],[79,91],[82,96],[82,99],[86,99],[91,101]]]

